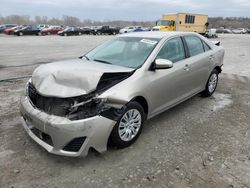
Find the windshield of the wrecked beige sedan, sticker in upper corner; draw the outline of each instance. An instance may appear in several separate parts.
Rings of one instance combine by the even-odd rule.
[[[85,55],[86,59],[123,67],[137,68],[150,55],[159,39],[118,37]]]

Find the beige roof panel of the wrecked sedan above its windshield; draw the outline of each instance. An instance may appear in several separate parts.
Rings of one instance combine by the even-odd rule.
[[[144,32],[132,32],[120,35],[121,37],[142,37],[142,38],[168,38],[172,36],[197,34],[195,32],[179,32],[179,31],[144,31]]]

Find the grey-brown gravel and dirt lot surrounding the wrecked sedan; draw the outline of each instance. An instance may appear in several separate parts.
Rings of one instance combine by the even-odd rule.
[[[0,35],[0,80],[80,56],[108,38]],[[0,82],[0,187],[250,187],[250,35],[217,40],[226,56],[212,97],[198,95],[162,113],[131,147],[101,155],[48,154],[19,121],[27,79]]]

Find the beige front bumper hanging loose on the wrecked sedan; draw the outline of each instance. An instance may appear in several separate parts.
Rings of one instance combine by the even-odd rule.
[[[64,117],[49,115],[33,107],[27,96],[21,97],[20,112],[22,124],[34,141],[49,153],[70,157],[86,156],[89,148],[94,148],[98,152],[106,151],[109,135],[116,123],[102,116],[71,121]],[[49,139],[46,140],[44,135]],[[78,151],[65,150],[78,138],[83,138]]]

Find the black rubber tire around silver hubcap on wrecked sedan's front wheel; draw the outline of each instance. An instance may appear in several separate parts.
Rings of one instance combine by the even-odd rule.
[[[124,141],[120,134],[119,134],[119,124],[122,120],[122,118],[124,117],[124,115],[129,111],[129,110],[136,110],[136,112],[140,113],[140,117],[141,117],[141,123],[140,123],[140,127],[138,128],[138,131],[136,133],[136,135],[129,141]],[[137,117],[137,116],[136,116]],[[142,106],[138,103],[138,102],[129,102],[126,107],[125,110],[123,112],[123,114],[121,115],[121,117],[119,118],[119,120],[117,121],[116,125],[114,126],[111,134],[110,134],[110,143],[113,146],[116,146],[118,148],[125,148],[130,146],[131,144],[133,144],[137,138],[140,136],[142,128],[143,128],[143,124],[145,121],[145,113],[144,110],[142,108]],[[125,128],[124,128],[125,129]],[[125,133],[124,133],[125,135]]]

